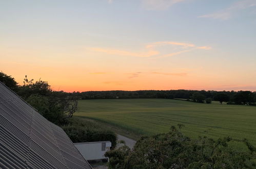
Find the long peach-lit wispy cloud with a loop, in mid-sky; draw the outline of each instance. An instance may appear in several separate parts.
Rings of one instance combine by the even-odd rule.
[[[155,48],[162,46],[174,46],[178,49],[173,49],[172,47],[166,47],[168,52],[164,52],[163,50],[156,50]],[[119,49],[109,49],[109,48],[89,48],[89,50],[93,52],[101,52],[110,55],[119,55],[119,56],[133,56],[133,57],[151,57],[151,58],[163,58],[163,57],[171,57],[174,55],[179,55],[182,53],[190,52],[192,50],[210,50],[209,46],[196,46],[190,43],[180,43],[176,41],[157,41],[155,43],[148,44],[144,47],[142,51],[144,52],[130,52],[126,50]],[[178,50],[178,51],[177,51]]]

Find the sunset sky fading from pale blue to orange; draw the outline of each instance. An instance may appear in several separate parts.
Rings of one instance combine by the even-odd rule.
[[[0,71],[56,91],[256,91],[256,0],[0,1]]]

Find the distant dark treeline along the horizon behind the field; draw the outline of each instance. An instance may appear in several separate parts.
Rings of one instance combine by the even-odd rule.
[[[74,92],[80,99],[126,99],[126,98],[165,98],[187,99],[210,103],[211,100],[228,104],[255,105],[256,92],[251,91],[198,91],[198,90],[141,90],[141,91],[90,91]]]

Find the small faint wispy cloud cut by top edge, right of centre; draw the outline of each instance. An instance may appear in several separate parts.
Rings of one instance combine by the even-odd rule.
[[[165,10],[182,1],[186,0],[142,0],[142,4],[147,10]]]

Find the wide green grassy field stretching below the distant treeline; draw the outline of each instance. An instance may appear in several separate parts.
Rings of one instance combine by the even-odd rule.
[[[136,136],[169,131],[185,124],[183,133],[192,138],[247,138],[256,145],[256,107],[194,103],[172,99],[80,100],[76,117],[89,118]],[[118,132],[118,131],[117,131]]]

